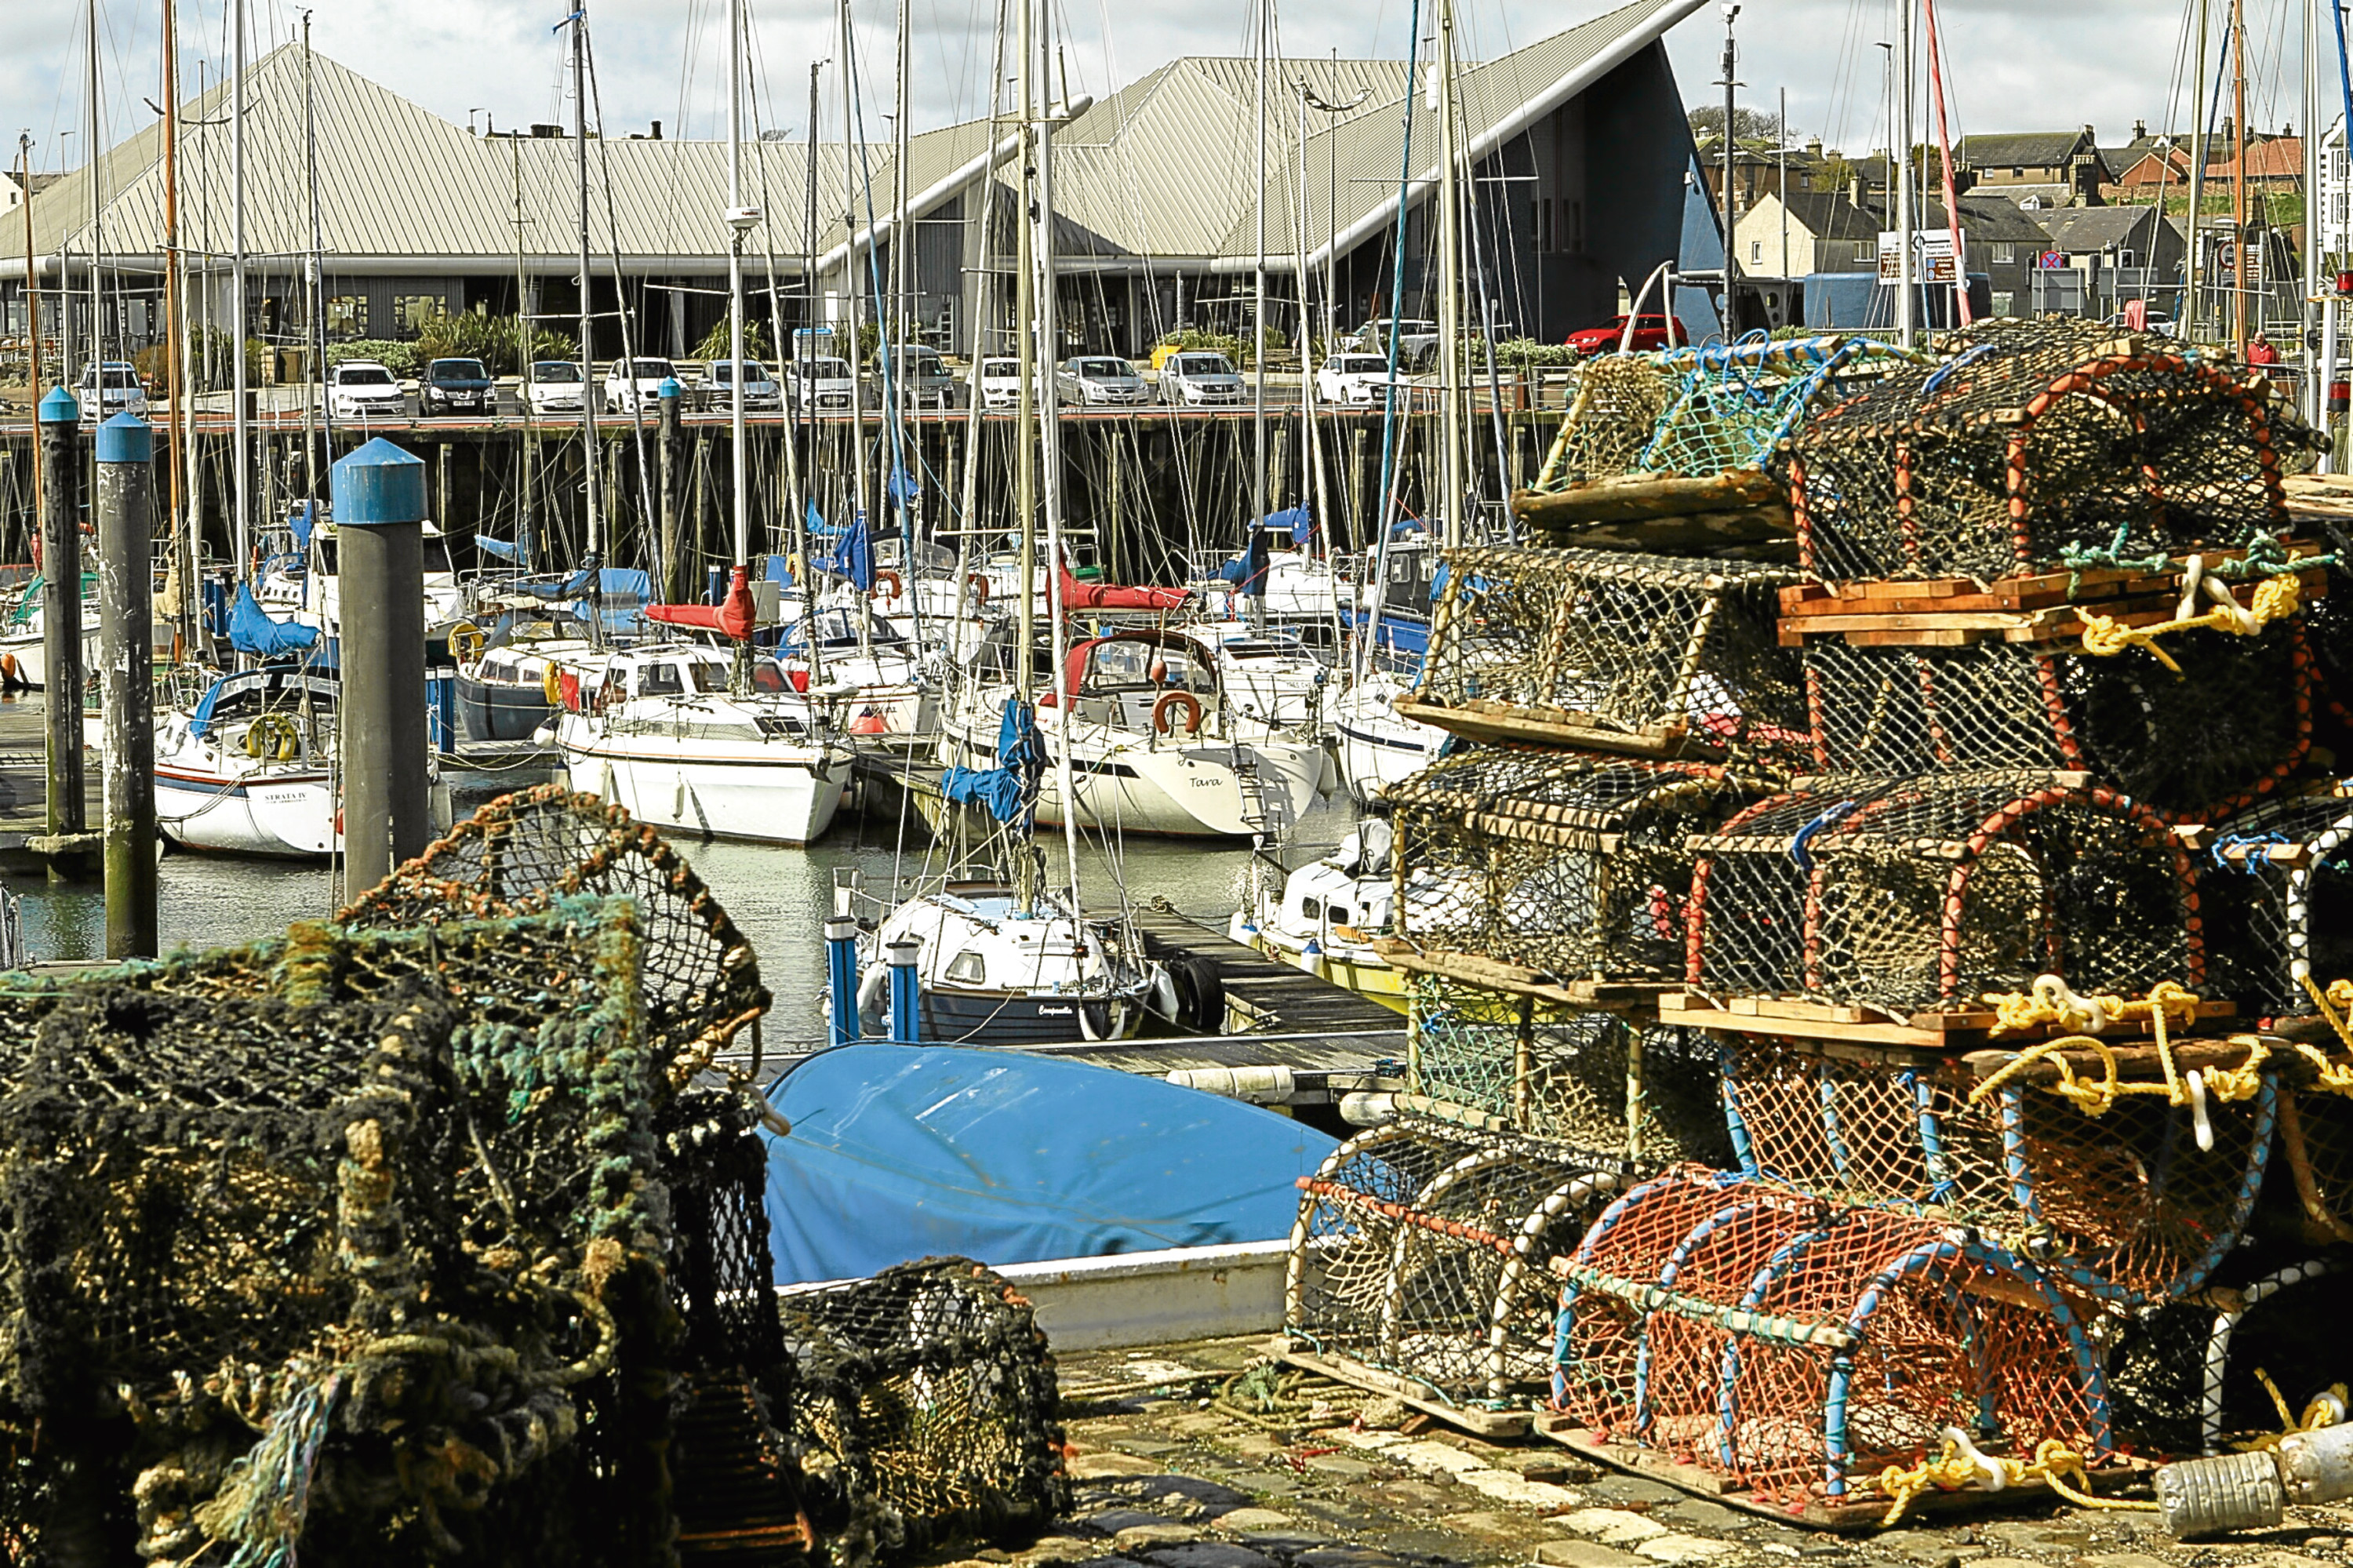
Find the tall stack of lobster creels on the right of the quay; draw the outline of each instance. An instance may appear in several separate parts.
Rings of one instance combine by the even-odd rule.
[[[2344,1375],[2311,1309],[2353,1278],[2353,556],[2289,506],[2320,443],[2261,374],[2089,323],[1715,356],[1654,360],[1649,407],[1769,407],[1753,466],[1518,511],[1741,558],[1447,556],[1400,706],[1459,746],[1388,796],[1400,1104],[1482,1090],[1541,1203],[1475,1212],[1506,1156],[1402,1123],[1344,1147],[1294,1354],[1828,1526],[2278,1427]],[[1678,443],[1555,457],[1638,445]],[[1614,1147],[1537,1125],[1609,1074]],[[1461,1321],[1449,1248],[1508,1285]]]

